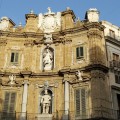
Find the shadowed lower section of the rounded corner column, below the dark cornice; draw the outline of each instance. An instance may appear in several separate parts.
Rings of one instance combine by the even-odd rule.
[[[106,74],[101,70],[91,71],[91,103],[92,116],[107,117],[110,115],[110,100]]]

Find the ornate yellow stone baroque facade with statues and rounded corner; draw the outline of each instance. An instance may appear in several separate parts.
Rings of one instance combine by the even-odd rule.
[[[112,119],[99,12],[83,21],[70,8],[25,16],[25,26],[6,17],[0,25],[1,118]]]

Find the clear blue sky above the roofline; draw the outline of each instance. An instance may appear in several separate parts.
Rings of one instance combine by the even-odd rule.
[[[120,0],[0,0],[0,18],[7,16],[16,26],[21,22],[25,25],[25,14],[31,9],[35,14],[46,13],[51,7],[52,12],[61,12],[70,7],[76,17],[84,20],[90,8],[100,11],[100,20],[106,20],[120,26]]]

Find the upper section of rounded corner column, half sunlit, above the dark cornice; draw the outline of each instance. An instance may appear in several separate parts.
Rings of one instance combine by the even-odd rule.
[[[105,65],[105,41],[103,39],[103,31],[98,28],[91,28],[88,32],[89,39],[89,56],[91,64]]]

